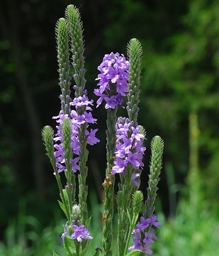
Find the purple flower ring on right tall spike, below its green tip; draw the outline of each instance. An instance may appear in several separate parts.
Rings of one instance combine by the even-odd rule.
[[[116,124],[116,160],[112,168],[112,175],[124,174],[125,168],[130,164],[135,170],[142,168],[141,161],[143,152],[146,147],[142,146],[145,136],[140,132],[138,126],[134,126],[128,118],[119,118]],[[139,186],[140,183],[137,179],[139,173],[132,175],[132,182],[134,185]]]

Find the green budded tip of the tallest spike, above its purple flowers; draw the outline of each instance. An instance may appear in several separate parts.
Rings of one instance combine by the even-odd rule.
[[[65,12],[71,39],[71,52],[74,68],[74,80],[76,81],[76,97],[82,96],[85,82],[84,79],[84,38],[83,25],[78,8],[68,5]]]

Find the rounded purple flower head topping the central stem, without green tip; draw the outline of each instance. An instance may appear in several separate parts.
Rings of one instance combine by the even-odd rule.
[[[100,88],[95,89],[94,93],[100,98],[97,101],[97,107],[106,101],[105,108],[116,108],[123,104],[123,96],[128,92],[129,62],[125,60],[124,55],[119,53],[105,54],[103,61],[98,66],[101,74],[96,80]]]

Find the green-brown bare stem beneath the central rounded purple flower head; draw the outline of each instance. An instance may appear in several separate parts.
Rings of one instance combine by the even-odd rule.
[[[114,192],[114,181],[115,177],[111,176],[111,170],[114,165],[113,156],[116,144],[116,112],[115,109],[107,110],[107,168],[106,168],[106,179],[103,184],[105,188],[105,201],[104,201],[104,212],[103,217],[105,218],[103,224],[103,254],[106,256],[112,255],[111,244],[112,244],[112,219],[114,214],[113,208],[113,192]]]

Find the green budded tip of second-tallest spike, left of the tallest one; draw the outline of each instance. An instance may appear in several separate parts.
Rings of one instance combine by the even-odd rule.
[[[59,85],[62,94],[60,95],[62,111],[69,112],[70,103],[70,54],[68,49],[68,30],[64,18],[60,18],[55,25],[55,35],[57,43],[57,62],[59,64]]]

